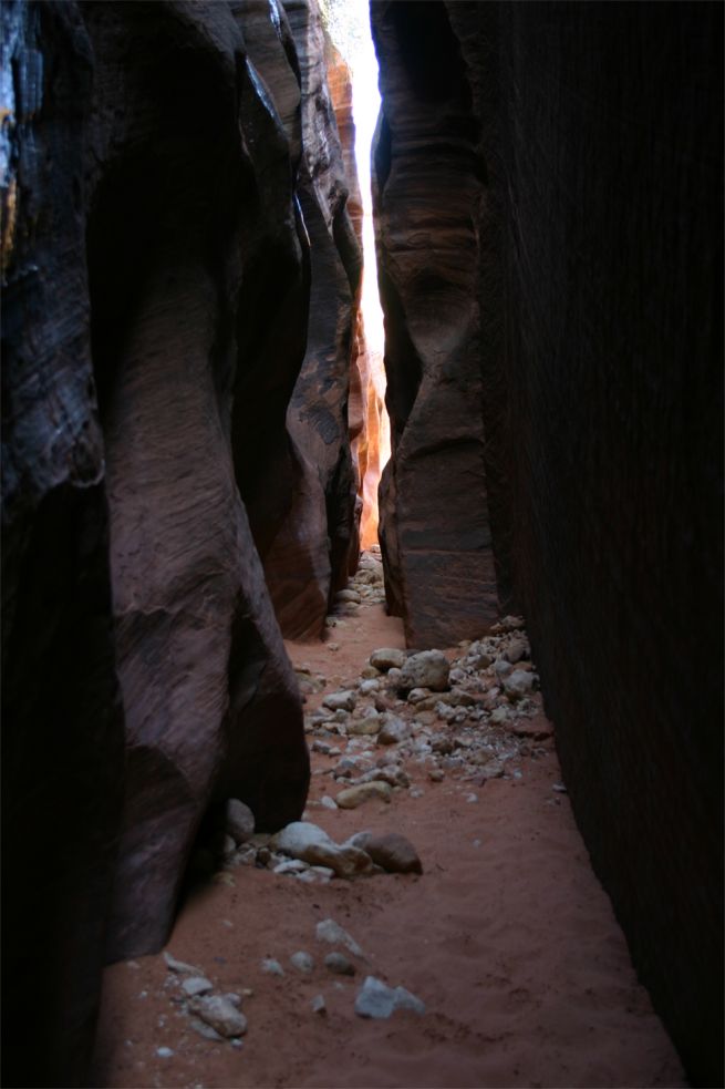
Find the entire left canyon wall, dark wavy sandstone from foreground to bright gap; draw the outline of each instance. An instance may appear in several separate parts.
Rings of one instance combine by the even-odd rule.
[[[289,569],[319,630],[356,559],[360,258],[288,8],[2,8],[7,1083],[83,1083],[205,815],[304,804],[280,621]]]

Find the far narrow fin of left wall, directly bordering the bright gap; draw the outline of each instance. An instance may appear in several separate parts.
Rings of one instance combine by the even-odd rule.
[[[259,502],[251,503],[250,517],[282,631],[309,638],[321,635],[332,595],[354,571],[359,552],[348,400],[361,256],[325,76],[330,45],[317,4],[287,0],[284,11],[300,68],[302,156],[296,198],[309,238],[309,319],[287,410],[287,445],[280,450],[280,458],[294,465],[286,516],[259,518],[260,504],[280,508],[279,489],[266,486],[257,489]],[[269,85],[273,93],[276,80]],[[276,335],[284,336],[289,325],[275,322]]]

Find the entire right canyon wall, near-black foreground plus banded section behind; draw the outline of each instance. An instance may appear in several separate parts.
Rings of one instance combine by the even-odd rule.
[[[418,525],[465,554],[490,522],[594,865],[690,1077],[721,1085],[722,9],[373,25],[391,596],[408,638],[435,599],[462,638],[435,567],[412,577]]]

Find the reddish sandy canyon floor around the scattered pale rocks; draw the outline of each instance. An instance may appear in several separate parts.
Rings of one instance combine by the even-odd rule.
[[[509,748],[500,742],[488,763],[485,753],[473,760],[480,751],[476,725],[463,712],[456,720],[453,708],[454,718],[441,723],[435,712],[426,718],[413,708],[423,733],[413,757],[410,744],[403,749],[407,784],[390,801],[332,808],[341,758],[365,768],[381,747],[374,737],[336,736],[332,721],[311,726],[310,717],[325,695],[359,688],[374,649],[404,646],[402,625],[385,614],[380,594],[342,613],[324,643],[288,644],[298,675],[309,677],[313,774],[304,820],[338,843],[362,830],[401,833],[417,850],[423,874],[308,881],[259,863],[218,870],[187,895],[166,952],[198,968],[215,993],[240,996],[246,1035],[236,1042],[199,1035],[183,979],[163,955],[116,964],[104,982],[94,1083],[686,1086],[592,873],[538,694],[528,716],[506,727]],[[446,656],[457,661],[467,649]],[[480,682],[481,699],[494,682]],[[381,692],[410,721],[410,706]],[[437,759],[425,756],[446,730],[462,748],[438,743]],[[342,926],[361,955],[318,941],[324,920]],[[325,967],[335,948],[354,976]],[[313,959],[307,974],[290,963],[300,951]],[[269,958],[283,975],[263,970]],[[355,997],[369,975],[407,988],[425,1013],[359,1016]],[[323,1011],[313,1006],[319,996]]]

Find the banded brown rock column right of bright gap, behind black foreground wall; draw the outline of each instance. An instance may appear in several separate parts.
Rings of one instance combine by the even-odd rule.
[[[394,458],[381,484],[389,604],[410,646],[475,638],[497,615],[476,292],[478,122],[439,3],[373,9],[379,284]],[[470,495],[480,500],[470,502]]]

